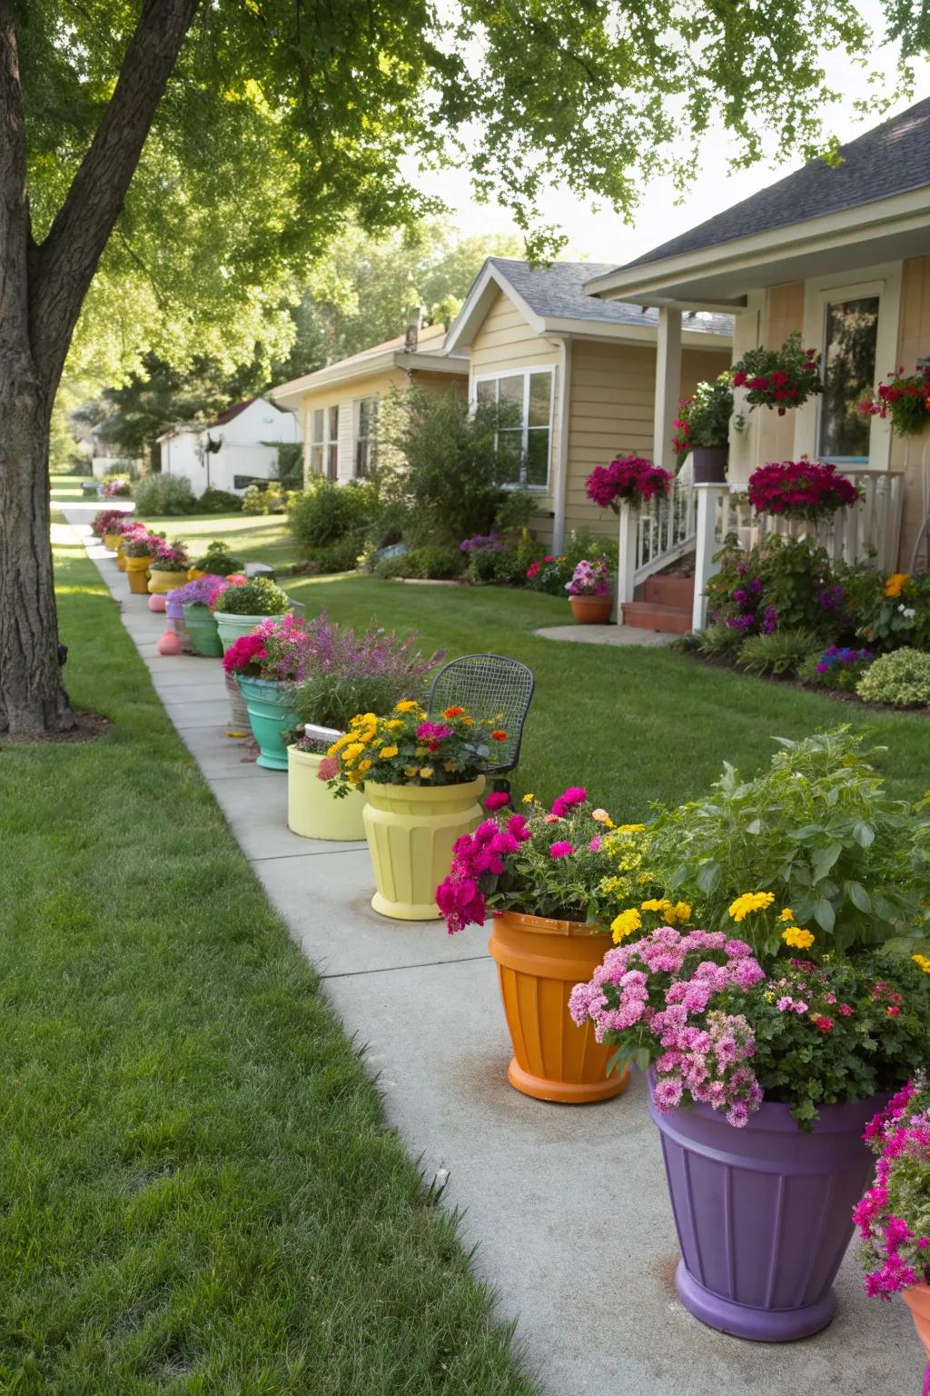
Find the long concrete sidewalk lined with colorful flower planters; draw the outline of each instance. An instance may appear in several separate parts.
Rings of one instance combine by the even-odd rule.
[[[66,508],[82,537],[96,508]],[[477,1244],[475,1266],[498,1289],[501,1316],[519,1321],[542,1390],[917,1396],[923,1362],[910,1316],[901,1301],[864,1298],[852,1252],[838,1318],[805,1343],[724,1337],[682,1308],[641,1078],[626,1096],[580,1108],[512,1090],[484,934],[450,938],[441,923],[383,920],[368,905],[364,845],[290,833],[286,773],[262,771],[226,737],[219,660],[159,656],[165,617],[128,593],[110,554],[93,543],[89,553],[255,875],[318,966],[346,1030],[367,1044],[388,1118],[427,1175],[448,1173],[445,1201],[464,1209],[464,1244]]]

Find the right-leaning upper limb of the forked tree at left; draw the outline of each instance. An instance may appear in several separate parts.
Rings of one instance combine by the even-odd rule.
[[[144,0],[113,96],[35,257],[32,353],[50,396],[198,3]]]

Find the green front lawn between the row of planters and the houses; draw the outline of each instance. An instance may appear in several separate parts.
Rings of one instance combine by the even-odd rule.
[[[535,676],[513,785],[551,799],[587,786],[616,819],[639,819],[650,803],[679,804],[707,792],[724,761],[747,776],[775,751],[774,737],[803,737],[848,722],[887,745],[877,758],[890,789],[919,799],[930,786],[930,722],[842,704],[786,684],[712,669],[664,648],[565,644],[533,634],[570,623],[567,604],[505,588],[427,586],[372,577],[294,578],[307,614],[325,606],[353,625],[375,616],[424,649],[448,656],[492,651],[521,659]]]

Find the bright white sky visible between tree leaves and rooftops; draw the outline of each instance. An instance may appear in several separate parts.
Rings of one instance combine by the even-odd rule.
[[[876,29],[881,28],[877,3],[866,0],[859,6],[859,10],[873,22]],[[904,98],[885,114],[863,120],[855,112],[853,103],[856,99],[869,96],[870,89],[864,71],[851,66],[848,59],[838,53],[824,56],[824,68],[828,84],[835,91],[842,92],[841,102],[824,114],[824,130],[827,135],[835,134],[841,142],[855,140],[869,127],[905,110],[913,101],[919,101],[930,92],[930,63],[915,64],[913,98]],[[885,80],[891,82],[894,74],[892,53],[887,52],[883,56],[880,50],[873,68],[884,73]],[[784,179],[802,163],[800,159],[778,163],[763,162],[752,169],[731,174],[728,170],[729,151],[731,141],[726,133],[719,128],[708,133],[700,148],[700,173],[685,201],[676,205],[671,181],[655,180],[644,188],[632,226],[625,223],[623,218],[613,209],[598,209],[593,202],[584,202],[577,195],[559,188],[548,191],[542,204],[544,221],[561,225],[567,235],[569,243],[562,257],[620,265],[671,237],[676,237],[689,228],[706,222],[767,184]],[[436,174],[421,176],[418,183],[425,193],[435,194],[450,205],[452,221],[466,236],[517,232],[505,209],[474,201],[464,172],[442,170]]]

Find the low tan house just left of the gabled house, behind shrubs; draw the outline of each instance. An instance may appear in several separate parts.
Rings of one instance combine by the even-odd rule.
[[[378,405],[410,384],[464,394],[468,360],[446,352],[443,325],[410,328],[317,373],[283,383],[272,399],[297,413],[305,477],[364,479],[376,454]]]

